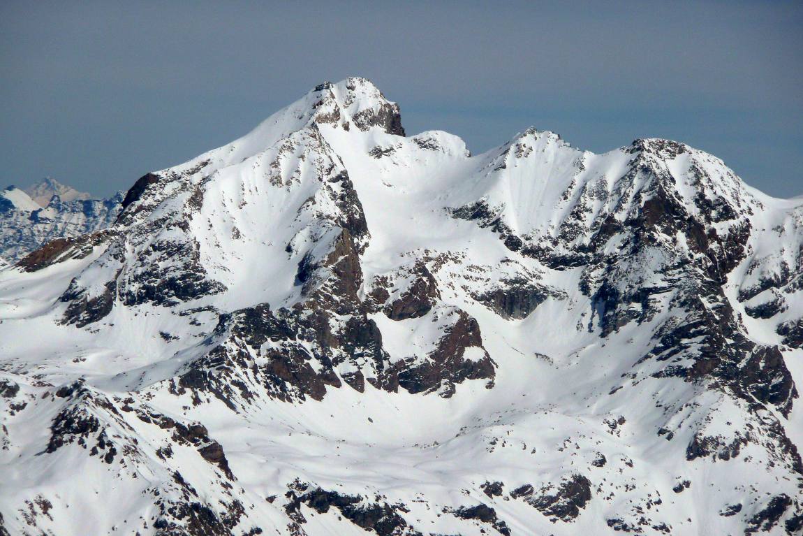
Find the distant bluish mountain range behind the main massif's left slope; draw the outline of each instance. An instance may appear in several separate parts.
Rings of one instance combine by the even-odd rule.
[[[61,191],[67,198],[53,193],[40,205],[46,189]],[[32,190],[16,186],[0,190],[0,256],[15,262],[52,239],[74,238],[111,225],[120,212],[124,194],[120,192],[109,199],[89,199],[85,195],[88,194],[50,178]]]

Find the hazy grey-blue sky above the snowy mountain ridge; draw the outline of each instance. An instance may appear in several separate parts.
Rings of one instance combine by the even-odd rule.
[[[0,2],[0,186],[96,195],[365,76],[408,134],[666,137],[803,194],[803,2]]]

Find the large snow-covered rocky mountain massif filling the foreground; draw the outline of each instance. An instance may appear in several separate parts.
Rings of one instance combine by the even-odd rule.
[[[10,534],[800,534],[803,201],[368,80],[0,272]]]

